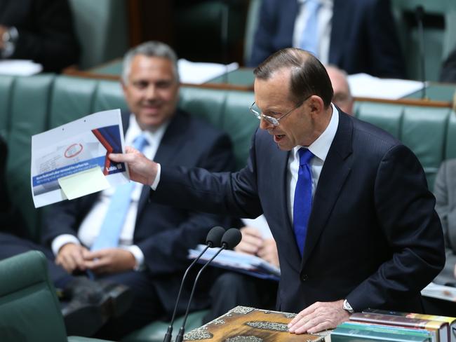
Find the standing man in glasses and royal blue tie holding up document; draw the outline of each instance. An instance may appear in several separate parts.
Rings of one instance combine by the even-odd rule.
[[[331,104],[330,78],[310,53],[280,50],[254,74],[251,110],[261,130],[239,172],[166,167],[133,148],[110,158],[145,184],[159,177],[152,201],[239,217],[264,212],[281,266],[276,306],[298,313],[293,333],[333,328],[353,310],[422,311],[420,290],[445,254],[416,156]]]

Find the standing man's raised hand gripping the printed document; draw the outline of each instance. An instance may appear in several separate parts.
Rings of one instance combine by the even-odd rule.
[[[159,170],[158,164],[131,146],[126,146],[125,151],[126,153],[111,153],[109,159],[116,163],[127,163],[131,180],[151,186]]]

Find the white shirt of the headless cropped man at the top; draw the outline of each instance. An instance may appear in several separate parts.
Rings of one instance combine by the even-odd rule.
[[[331,20],[333,19],[333,0],[319,0],[321,8],[318,11],[318,60],[323,64],[329,62],[329,46],[331,40]],[[298,0],[300,5],[296,15],[295,30],[293,32],[293,47],[300,48],[302,32],[309,17],[306,11],[307,0]]]

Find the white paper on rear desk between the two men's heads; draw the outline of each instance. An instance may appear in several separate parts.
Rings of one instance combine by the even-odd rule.
[[[177,61],[181,83],[201,84],[239,68],[238,63],[218,64],[204,62],[190,62],[180,59]]]

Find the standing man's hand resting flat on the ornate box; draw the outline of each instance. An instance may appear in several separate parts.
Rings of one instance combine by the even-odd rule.
[[[342,308],[344,300],[312,304],[296,315],[288,324],[293,334],[315,333],[333,329],[349,319],[350,314]]]

